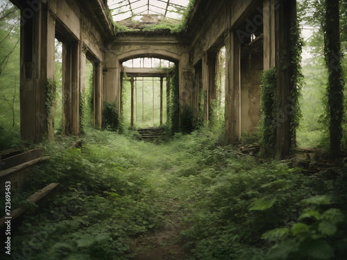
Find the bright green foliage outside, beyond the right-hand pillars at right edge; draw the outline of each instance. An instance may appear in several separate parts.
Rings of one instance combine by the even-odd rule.
[[[304,0],[298,2],[299,13],[303,17],[305,25],[312,26],[312,36],[307,39],[305,45],[307,51],[313,56],[310,60],[303,63],[303,72],[305,75],[305,86],[303,88],[303,100],[301,105],[303,107],[304,120],[301,122],[302,129],[298,132],[298,141],[302,146],[319,146],[325,150],[329,149],[329,125],[330,119],[328,116],[328,98],[326,96],[325,87],[328,85],[328,67],[325,67],[325,49],[323,37],[326,35],[325,31],[325,1],[322,0]],[[340,14],[346,13],[346,1],[339,1]],[[330,17],[335,17],[330,15]],[[347,19],[346,15],[340,15],[340,40],[341,40],[341,53],[346,53],[347,50]],[[307,26],[305,26],[307,27]],[[330,26],[332,28],[333,26]],[[335,42],[335,41],[332,41]],[[335,54],[338,53],[335,51]],[[336,55],[339,57],[339,55]],[[334,61],[333,64],[336,62]],[[346,71],[347,60],[341,60],[341,67]],[[346,83],[347,73],[343,74]],[[337,86],[337,85],[336,85]],[[344,89],[346,95],[346,88]],[[324,97],[325,96],[325,97]],[[337,100],[341,98],[339,96]],[[339,102],[332,102],[337,105]],[[346,106],[346,98],[344,98]],[[327,109],[328,108],[328,109]],[[341,108],[341,107],[340,107]],[[341,110],[340,110],[341,111]],[[318,123],[317,123],[318,121]],[[342,123],[342,148],[346,149],[346,119]],[[310,126],[311,125],[311,126]],[[315,128],[315,129],[312,129]],[[339,131],[339,128],[335,130]],[[319,135],[319,131],[322,135]],[[336,135],[338,137],[339,135]],[[341,136],[341,135],[340,135]],[[335,148],[334,148],[335,149]]]

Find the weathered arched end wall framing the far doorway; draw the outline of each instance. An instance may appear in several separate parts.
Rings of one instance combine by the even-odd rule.
[[[124,33],[105,52],[104,100],[115,101],[121,110],[121,62],[133,58],[161,58],[175,62],[179,68],[180,105],[190,104],[192,68],[189,46],[175,35]]]

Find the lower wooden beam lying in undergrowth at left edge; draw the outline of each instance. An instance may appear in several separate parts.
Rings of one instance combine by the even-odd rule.
[[[51,183],[41,189],[40,191],[35,192],[33,195],[31,195],[27,200],[28,202],[32,202],[37,204],[37,202],[40,202],[44,197],[48,196],[51,191],[56,189],[58,187],[59,183]],[[19,218],[19,216],[22,216],[22,214],[26,211],[25,207],[19,207],[18,209],[12,210],[10,212],[10,216],[3,216],[0,218],[0,229],[3,229],[6,226],[6,221],[10,220],[11,224],[12,221]]]

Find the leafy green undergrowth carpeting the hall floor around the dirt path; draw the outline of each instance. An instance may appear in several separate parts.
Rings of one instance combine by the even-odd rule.
[[[81,148],[49,144],[51,159],[31,171],[28,187],[60,189],[26,214],[12,255],[132,259],[131,239],[159,230],[174,200],[190,259],[344,259],[346,168],[303,175],[217,139],[201,130],[151,144],[93,130]]]

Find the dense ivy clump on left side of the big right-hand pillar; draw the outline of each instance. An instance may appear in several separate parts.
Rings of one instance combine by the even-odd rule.
[[[267,155],[273,154],[276,146],[276,68],[271,68],[262,73],[261,83],[261,110],[262,110],[262,148]]]

